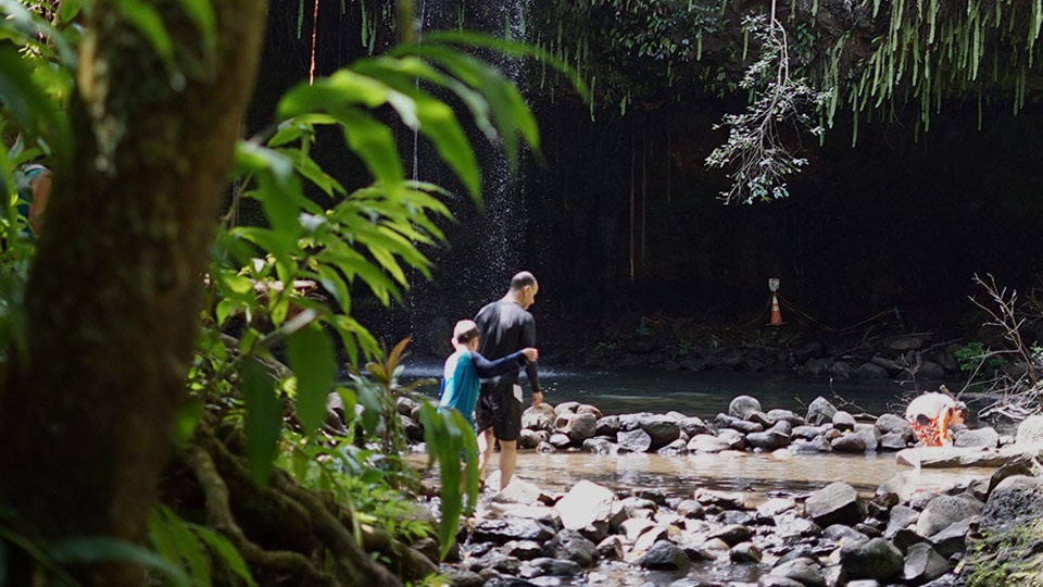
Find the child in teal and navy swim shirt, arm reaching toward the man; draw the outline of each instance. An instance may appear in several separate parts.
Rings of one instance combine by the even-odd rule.
[[[438,407],[455,409],[472,426],[475,425],[475,405],[478,403],[478,379],[502,375],[512,369],[525,366],[527,360],[536,361],[539,358],[538,351],[529,347],[503,359],[489,361],[478,354],[478,325],[470,320],[456,323],[453,347],[456,352],[449,355],[442,371]]]

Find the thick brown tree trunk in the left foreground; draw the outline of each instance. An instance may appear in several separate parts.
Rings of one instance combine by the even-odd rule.
[[[28,352],[0,389],[0,504],[34,539],[144,536],[267,4],[214,0],[208,53],[186,2],[149,0],[173,39],[167,64],[117,3],[89,12],[74,153],[54,170],[26,294]],[[144,580],[129,564],[77,575]]]

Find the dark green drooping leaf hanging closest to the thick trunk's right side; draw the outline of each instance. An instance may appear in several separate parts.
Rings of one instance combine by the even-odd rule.
[[[242,395],[247,404],[247,461],[250,476],[265,485],[272,476],[282,434],[282,403],[264,365],[248,359],[242,365]]]

